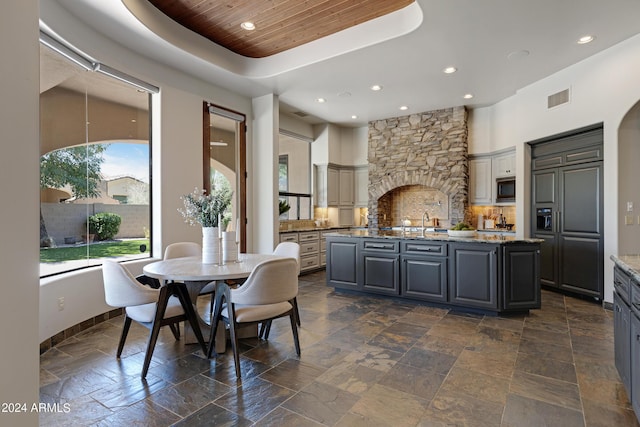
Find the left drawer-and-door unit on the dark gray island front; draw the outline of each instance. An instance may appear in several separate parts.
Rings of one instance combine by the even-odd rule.
[[[370,240],[362,243],[360,259],[360,289],[384,294],[400,294],[399,241]]]

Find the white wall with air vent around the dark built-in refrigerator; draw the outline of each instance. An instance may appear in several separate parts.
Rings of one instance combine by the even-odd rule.
[[[626,113],[640,99],[640,35],[594,55],[578,64],[527,86],[513,97],[479,112],[482,147],[516,145],[519,194],[526,194],[516,208],[516,228],[526,229],[529,204],[529,154],[526,142],[594,123],[604,123],[604,236],[605,293],[613,301],[612,254],[618,254],[618,128]],[[547,109],[547,96],[571,88],[569,104]],[[489,123],[487,124],[487,121]],[[486,128],[489,140],[486,141]],[[476,135],[476,133],[473,133]],[[473,142],[472,142],[473,144]],[[638,206],[640,208],[640,206]],[[637,213],[636,213],[637,215]],[[640,227],[640,225],[635,225]],[[528,233],[528,230],[526,230]],[[635,248],[640,252],[640,241]]]

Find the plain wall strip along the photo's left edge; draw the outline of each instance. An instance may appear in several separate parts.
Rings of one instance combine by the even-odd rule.
[[[39,401],[38,1],[6,2],[0,15],[0,402]],[[19,183],[20,185],[16,185]],[[37,426],[37,413],[0,412],[0,425]]]

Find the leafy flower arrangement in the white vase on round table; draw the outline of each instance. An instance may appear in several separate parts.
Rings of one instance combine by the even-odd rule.
[[[184,208],[178,208],[178,212],[184,217],[184,221],[189,225],[200,225],[202,227],[219,227],[219,218],[231,204],[233,192],[226,187],[216,189],[212,194],[206,194],[205,190],[198,187],[192,193],[180,197],[184,203]]]

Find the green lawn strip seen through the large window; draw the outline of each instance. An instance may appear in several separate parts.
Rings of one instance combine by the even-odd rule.
[[[144,253],[149,253],[149,240],[124,240],[104,243],[92,243],[89,246],[65,246],[60,248],[40,249],[40,262],[61,262],[87,258],[118,257],[140,254],[140,245],[147,245]]]

